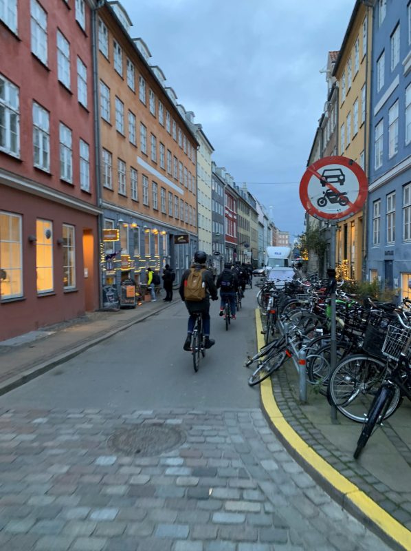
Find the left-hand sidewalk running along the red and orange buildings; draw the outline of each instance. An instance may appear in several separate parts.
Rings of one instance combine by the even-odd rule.
[[[66,362],[90,346],[178,302],[159,298],[135,309],[96,311],[0,342],[0,395]]]

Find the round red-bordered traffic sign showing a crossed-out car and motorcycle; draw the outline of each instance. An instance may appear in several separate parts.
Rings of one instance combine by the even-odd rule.
[[[367,194],[368,178],[364,170],[347,157],[318,159],[301,178],[302,206],[315,218],[348,218],[362,209]]]

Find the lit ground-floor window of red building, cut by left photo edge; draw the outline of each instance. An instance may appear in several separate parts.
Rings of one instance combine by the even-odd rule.
[[[21,216],[0,211],[0,298],[23,296]]]

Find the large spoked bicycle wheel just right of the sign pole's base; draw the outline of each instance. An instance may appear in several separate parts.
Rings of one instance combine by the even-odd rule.
[[[329,403],[344,417],[364,423],[386,371],[385,362],[366,354],[346,357],[331,373],[327,388]],[[390,406],[386,417],[392,415],[394,410]]]

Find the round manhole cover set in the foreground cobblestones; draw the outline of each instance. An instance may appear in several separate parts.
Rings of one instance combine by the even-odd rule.
[[[109,447],[126,455],[150,456],[172,450],[183,444],[186,436],[173,426],[147,425],[120,428],[109,437]]]

